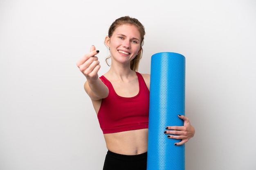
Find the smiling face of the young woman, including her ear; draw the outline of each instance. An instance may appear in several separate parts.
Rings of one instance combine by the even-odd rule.
[[[140,51],[141,37],[136,26],[124,24],[118,26],[112,37],[105,38],[105,44],[110,48],[111,62],[130,64]]]

